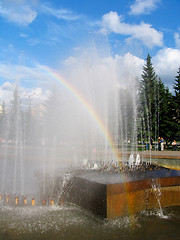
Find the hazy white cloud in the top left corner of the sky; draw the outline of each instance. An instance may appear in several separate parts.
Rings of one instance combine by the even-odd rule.
[[[36,19],[37,13],[28,5],[3,5],[0,2],[0,15],[9,22],[27,26]]]

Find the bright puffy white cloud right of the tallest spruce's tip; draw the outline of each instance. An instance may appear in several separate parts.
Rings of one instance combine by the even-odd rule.
[[[173,48],[161,49],[152,58],[152,62],[157,75],[171,88],[180,67],[180,50]]]

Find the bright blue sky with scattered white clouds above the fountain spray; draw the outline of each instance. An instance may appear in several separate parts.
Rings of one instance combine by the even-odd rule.
[[[17,80],[24,91],[41,92],[41,65],[63,72],[92,49],[112,64],[136,65],[138,76],[149,53],[171,88],[180,66],[179,12],[179,0],[0,0],[0,101]]]

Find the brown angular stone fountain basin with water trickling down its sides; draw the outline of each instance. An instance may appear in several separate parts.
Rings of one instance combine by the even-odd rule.
[[[107,173],[81,170],[72,174],[64,198],[104,218],[180,205],[180,171],[163,168]]]

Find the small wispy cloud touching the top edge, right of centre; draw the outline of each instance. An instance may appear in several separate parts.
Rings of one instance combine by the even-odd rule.
[[[130,14],[149,14],[157,8],[160,1],[161,0],[136,0],[135,3],[130,6]]]

